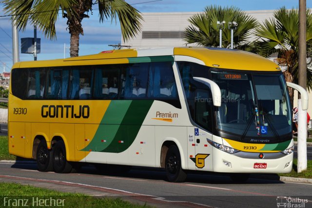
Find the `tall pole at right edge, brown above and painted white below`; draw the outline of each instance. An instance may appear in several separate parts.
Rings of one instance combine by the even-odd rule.
[[[299,0],[298,83],[307,89],[307,3]],[[298,173],[307,169],[307,110],[302,110],[298,93]]]

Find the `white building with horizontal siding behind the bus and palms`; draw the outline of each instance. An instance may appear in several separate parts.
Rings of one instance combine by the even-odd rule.
[[[269,18],[273,18],[274,10],[254,10],[245,11],[253,16],[260,23]],[[186,46],[182,40],[185,28],[190,24],[188,19],[201,12],[168,12],[168,13],[142,13],[142,31],[128,42],[122,42],[122,45],[129,45],[132,48],[155,48]],[[239,25],[238,25],[239,26]],[[193,46],[194,44],[187,44]],[[276,57],[272,57],[274,59]],[[294,105],[296,106],[296,93]],[[312,92],[309,92],[308,113],[312,117]],[[311,125],[310,125],[311,126]]]

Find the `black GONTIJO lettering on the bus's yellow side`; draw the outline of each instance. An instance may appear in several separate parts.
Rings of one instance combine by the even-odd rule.
[[[90,116],[89,105],[79,105],[78,109],[75,105],[42,105],[42,118],[72,118],[87,119]]]

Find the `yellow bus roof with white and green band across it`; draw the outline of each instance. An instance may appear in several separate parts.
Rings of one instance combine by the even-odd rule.
[[[277,64],[262,56],[236,49],[216,47],[168,47],[109,50],[102,51],[101,53],[94,55],[79,56],[67,59],[18,62],[14,64],[13,68],[152,62],[153,58],[155,59],[155,57],[166,56],[188,56],[200,60],[199,62],[202,64],[215,68],[253,71],[280,70]]]

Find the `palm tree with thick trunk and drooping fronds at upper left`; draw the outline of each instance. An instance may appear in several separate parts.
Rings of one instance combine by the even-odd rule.
[[[17,26],[25,30],[28,22],[36,22],[46,38],[56,39],[55,23],[59,17],[67,19],[70,33],[70,56],[78,56],[79,35],[83,35],[81,21],[89,18],[92,7],[98,4],[99,21],[118,17],[123,40],[134,37],[141,29],[142,17],[140,13],[124,0],[3,0],[4,10],[13,15],[17,20]]]

